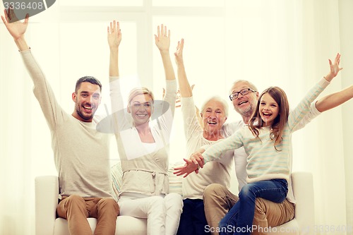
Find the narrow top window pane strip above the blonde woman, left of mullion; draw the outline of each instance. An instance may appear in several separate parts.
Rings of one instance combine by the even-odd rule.
[[[61,6],[143,6],[143,0],[60,0]]]

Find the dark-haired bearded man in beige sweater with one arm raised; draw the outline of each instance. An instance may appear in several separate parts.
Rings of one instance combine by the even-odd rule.
[[[78,79],[72,94],[75,109],[71,115],[67,114],[57,103],[25,41],[28,16],[21,23],[11,8],[4,13],[1,19],[18,46],[52,133],[59,174],[57,215],[68,220],[70,234],[92,234],[87,217],[97,218],[95,234],[115,234],[119,206],[111,195],[109,135],[98,132],[93,121],[101,100],[100,81],[90,76]]]

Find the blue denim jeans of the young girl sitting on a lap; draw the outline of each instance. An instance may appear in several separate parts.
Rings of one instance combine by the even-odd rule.
[[[287,197],[288,182],[285,179],[271,179],[248,183],[239,193],[238,202],[220,221],[220,235],[251,234],[256,198],[282,203]]]

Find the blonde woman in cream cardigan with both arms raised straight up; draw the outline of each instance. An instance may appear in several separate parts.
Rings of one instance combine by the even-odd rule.
[[[169,135],[172,128],[174,104],[177,93],[172,61],[169,56],[170,32],[158,26],[155,44],[160,49],[166,74],[166,94],[162,116],[151,120],[155,100],[148,88],[136,88],[128,97],[126,117],[122,102],[118,54],[121,42],[119,23],[110,23],[109,80],[114,113],[114,128],[121,168],[123,171],[120,215],[147,218],[148,234],[176,234],[181,214],[182,200],[177,193],[169,192],[167,177]],[[132,120],[132,124],[131,124]]]

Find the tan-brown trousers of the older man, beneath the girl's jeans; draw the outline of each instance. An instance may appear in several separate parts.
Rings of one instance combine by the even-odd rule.
[[[217,227],[220,220],[239,200],[225,186],[218,183],[210,184],[203,191],[205,215],[211,234],[218,235]],[[253,226],[257,228],[276,227],[294,218],[294,204],[287,199],[282,203],[273,203],[263,198],[256,198]],[[253,235],[264,235],[265,229],[253,231]]]

